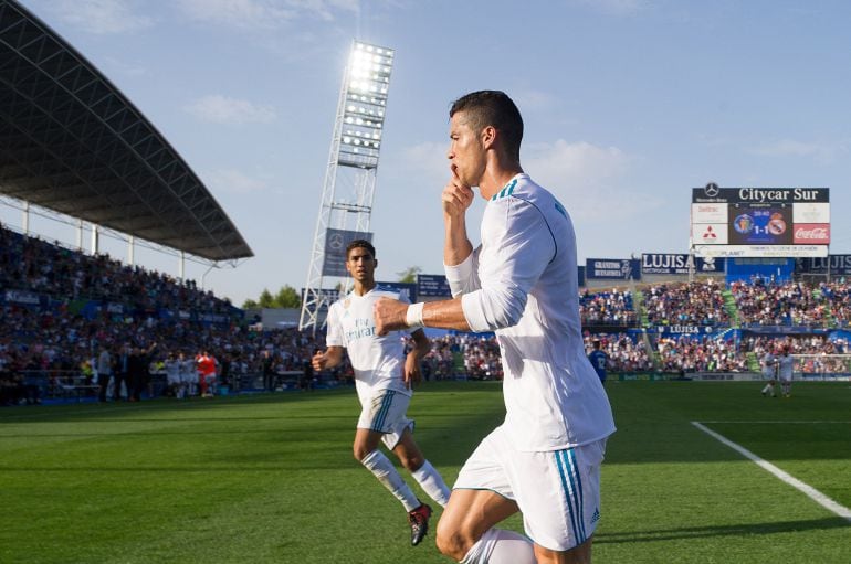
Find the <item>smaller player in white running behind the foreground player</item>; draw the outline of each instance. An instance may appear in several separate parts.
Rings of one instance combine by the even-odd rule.
[[[317,371],[343,362],[348,351],[355,370],[355,387],[363,411],[355,433],[355,459],[363,464],[408,511],[411,544],[418,545],[429,531],[431,507],[420,502],[390,459],[378,448],[384,443],[411,472],[426,493],[441,507],[449,501],[449,488],[413,440],[413,422],[406,415],[411,386],[421,380],[420,359],[429,352],[422,329],[411,333],[414,348],[407,357],[402,332],[379,336],[372,308],[380,297],[398,299],[399,292],[376,285],[376,249],[356,240],[346,248],[346,269],[355,288],[328,310],[327,349],[313,357]]]

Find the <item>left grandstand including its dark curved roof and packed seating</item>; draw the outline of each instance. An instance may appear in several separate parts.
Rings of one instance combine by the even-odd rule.
[[[253,255],[154,125],[11,0],[0,4],[0,195],[88,222],[94,234],[107,228],[176,251],[181,265],[185,254],[212,264]],[[85,255],[0,231],[0,403],[92,393],[99,347],[211,347],[222,375],[251,361],[255,342],[227,300],[101,255],[96,240]]]

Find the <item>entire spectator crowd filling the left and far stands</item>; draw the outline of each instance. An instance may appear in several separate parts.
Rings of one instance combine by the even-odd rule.
[[[192,280],[123,265],[108,256],[84,255],[2,227],[0,298],[4,298],[0,299],[0,404],[38,403],[63,382],[80,379],[99,385],[103,401],[204,394],[204,379],[197,380],[197,386],[180,384],[180,371],[191,370],[178,365],[182,359],[198,368],[204,351],[214,359],[212,381],[218,385],[234,386],[259,375],[265,390],[293,382],[309,389],[322,377],[338,382],[353,377],[348,364],[328,374],[312,373],[311,357],[324,348],[322,331],[253,331],[228,300]],[[81,304],[93,301],[94,311],[81,310]],[[599,340],[611,372],[746,371],[753,369],[754,358],[780,343],[789,343],[795,354],[849,353],[844,340],[821,334],[739,341],[627,332],[641,324],[635,302],[630,290],[584,289],[579,295],[582,324],[595,331],[586,333],[586,348]],[[735,281],[728,288],[712,280],[654,284],[643,289],[639,307],[650,327],[725,328],[734,324],[735,311],[743,328],[843,328],[851,320],[851,285],[844,280]],[[129,368],[128,359],[134,359]],[[808,362],[812,371],[839,368],[827,360]],[[503,377],[493,334],[435,337],[422,368],[427,380],[462,373],[481,380]],[[161,389],[154,390],[151,374],[162,376]],[[112,386],[108,393],[106,386]],[[211,385],[209,393],[214,390]]]

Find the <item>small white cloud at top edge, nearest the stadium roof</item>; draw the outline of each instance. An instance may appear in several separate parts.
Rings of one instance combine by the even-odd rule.
[[[70,25],[101,35],[138,31],[154,23],[136,13],[132,0],[56,0],[54,9]]]

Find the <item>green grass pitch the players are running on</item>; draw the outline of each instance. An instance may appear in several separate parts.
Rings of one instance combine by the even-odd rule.
[[[691,424],[849,508],[848,383],[788,400],[759,383],[607,386],[619,430],[595,562],[851,562],[849,520]],[[409,545],[401,506],[351,458],[357,413],[351,389],[2,408],[0,562],[450,562],[433,525]],[[409,411],[450,483],[502,413],[498,384],[473,382],[423,384]]]

